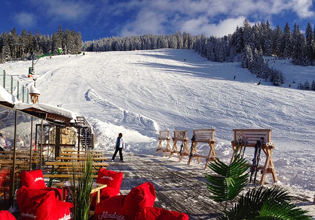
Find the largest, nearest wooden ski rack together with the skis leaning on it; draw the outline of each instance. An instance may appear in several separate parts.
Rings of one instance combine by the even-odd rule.
[[[235,159],[236,154],[244,155],[246,147],[255,148],[254,159],[248,165],[251,168],[251,177],[254,176],[254,183],[256,180],[257,171],[261,172],[260,185],[263,186],[267,173],[272,173],[274,182],[277,182],[276,169],[273,161],[273,150],[275,149],[274,143],[271,141],[272,129],[233,129],[234,140],[231,142],[234,154],[231,162]],[[260,150],[266,156],[263,166],[258,165],[260,160]]]

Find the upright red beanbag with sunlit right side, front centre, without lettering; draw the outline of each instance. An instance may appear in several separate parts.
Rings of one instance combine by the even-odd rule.
[[[154,186],[149,182],[141,184],[130,190],[119,213],[130,219],[135,219],[144,208],[153,207],[155,198]]]

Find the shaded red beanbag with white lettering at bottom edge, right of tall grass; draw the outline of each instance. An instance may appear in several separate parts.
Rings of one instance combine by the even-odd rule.
[[[101,200],[96,207],[94,213],[94,219],[124,219],[127,220],[127,216],[120,214],[120,209],[126,195],[113,196],[108,199]]]

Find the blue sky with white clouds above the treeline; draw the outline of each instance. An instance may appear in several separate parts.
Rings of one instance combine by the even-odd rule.
[[[2,0],[0,33],[13,27],[52,35],[62,29],[81,32],[82,40],[107,36],[169,34],[223,36],[233,33],[245,18],[255,22],[315,25],[313,0]]]

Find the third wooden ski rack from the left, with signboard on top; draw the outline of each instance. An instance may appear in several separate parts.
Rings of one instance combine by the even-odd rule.
[[[209,144],[209,154],[208,155],[201,155],[197,152],[197,144],[198,143],[208,143]],[[195,129],[193,130],[193,138],[192,138],[192,146],[190,148],[189,153],[189,159],[188,159],[188,165],[190,164],[191,160],[193,158],[197,158],[198,163],[200,163],[200,158],[206,159],[206,165],[205,168],[207,168],[207,165],[210,161],[214,160],[216,157],[214,145],[216,143],[216,140],[214,139],[214,129]]]

